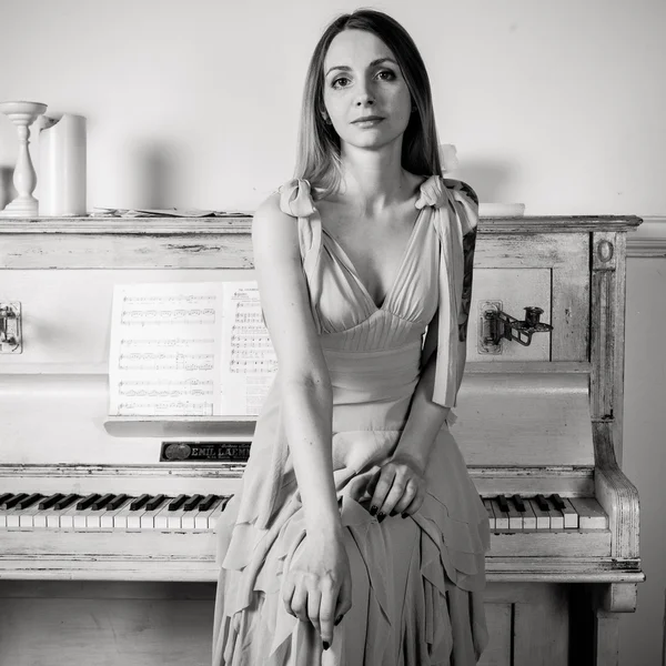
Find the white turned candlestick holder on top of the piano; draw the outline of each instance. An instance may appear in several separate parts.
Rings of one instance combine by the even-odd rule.
[[[37,186],[37,174],[28,144],[30,143],[30,125],[47,110],[40,102],[0,102],[0,111],[17,125],[19,134],[19,157],[13,172],[13,184],[19,195],[9,203],[2,218],[37,218],[38,201],[32,196]]]

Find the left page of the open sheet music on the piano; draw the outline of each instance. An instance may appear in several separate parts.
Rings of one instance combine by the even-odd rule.
[[[221,285],[117,285],[110,413],[214,415],[219,411]]]

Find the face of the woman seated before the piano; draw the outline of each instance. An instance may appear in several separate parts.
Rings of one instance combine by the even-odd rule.
[[[324,59],[324,105],[343,142],[379,149],[402,138],[412,98],[386,44],[372,32],[344,30]],[[356,122],[370,115],[381,120]]]

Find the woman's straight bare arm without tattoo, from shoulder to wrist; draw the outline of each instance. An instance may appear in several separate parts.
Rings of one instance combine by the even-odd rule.
[[[309,534],[342,531],[333,484],[332,390],[303,274],[297,221],[272,194],[254,214],[252,243],[262,309],[278,356],[285,435]]]

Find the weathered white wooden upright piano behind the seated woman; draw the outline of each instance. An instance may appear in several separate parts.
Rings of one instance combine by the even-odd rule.
[[[639,223],[481,220],[452,432],[492,526],[486,666],[618,663],[644,579],[622,472]],[[111,303],[115,284],[252,280],[250,229],[0,223],[0,666],[210,662],[214,524],[253,418],[110,416]]]

